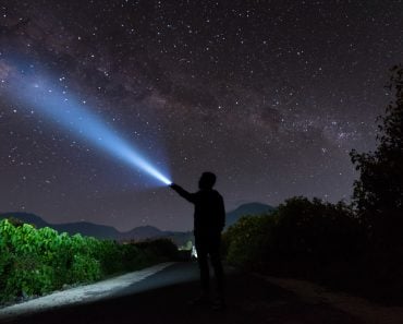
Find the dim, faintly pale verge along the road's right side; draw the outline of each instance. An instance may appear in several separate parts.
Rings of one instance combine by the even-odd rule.
[[[297,279],[256,275],[270,284],[293,291],[309,303],[328,303],[361,319],[367,324],[402,324],[403,307],[383,307],[364,298],[330,291],[319,285]]]

